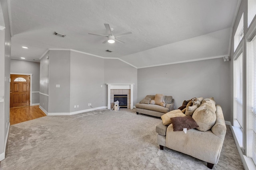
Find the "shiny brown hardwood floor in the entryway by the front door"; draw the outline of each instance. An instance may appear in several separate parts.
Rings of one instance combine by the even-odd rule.
[[[39,106],[10,108],[10,125],[46,116]]]

